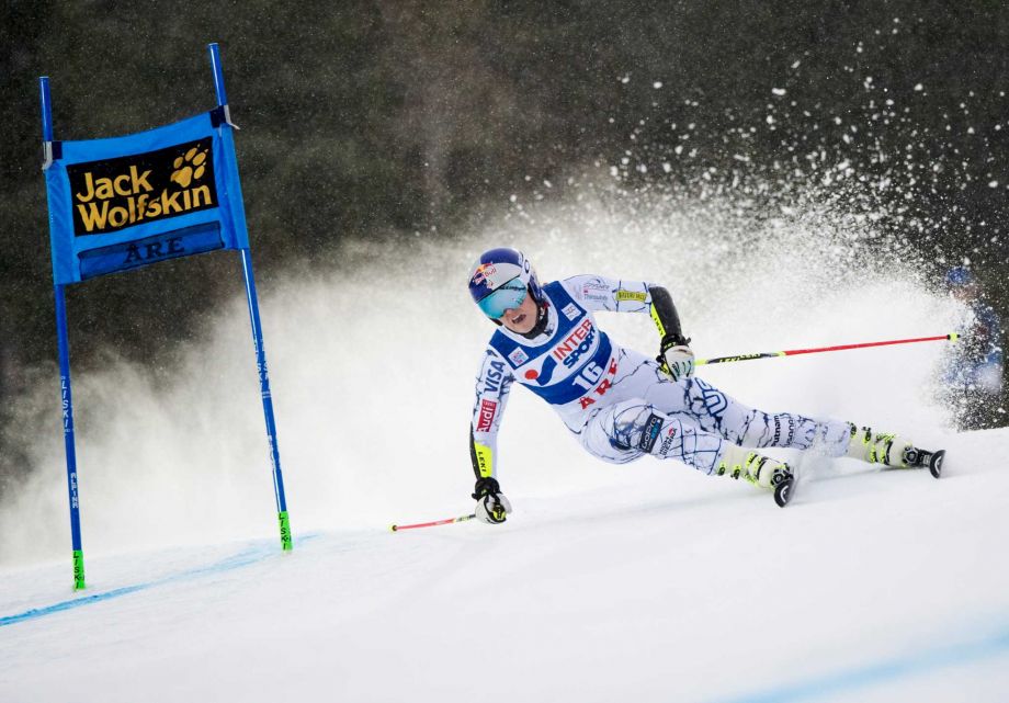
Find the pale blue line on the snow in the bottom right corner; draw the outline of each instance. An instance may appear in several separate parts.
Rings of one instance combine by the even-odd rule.
[[[815,701],[828,695],[866,689],[900,679],[936,672],[938,669],[957,667],[999,657],[1009,653],[1009,631],[984,639],[946,647],[926,649],[907,657],[880,664],[827,673],[819,678],[776,689],[749,693],[738,698],[721,699],[718,703],[796,703]]]

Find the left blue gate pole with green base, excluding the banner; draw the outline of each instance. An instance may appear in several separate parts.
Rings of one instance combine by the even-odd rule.
[[[42,138],[45,151],[43,169],[53,161],[53,109],[49,79],[38,79],[42,93]],[[73,590],[84,588],[84,552],[80,541],[80,498],[77,490],[77,449],[73,442],[73,398],[70,392],[70,341],[67,333],[67,299],[64,285],[54,283],[56,298],[56,339],[59,347],[59,388],[63,406],[64,445],[67,451],[67,491],[70,498],[70,542],[73,547]]]

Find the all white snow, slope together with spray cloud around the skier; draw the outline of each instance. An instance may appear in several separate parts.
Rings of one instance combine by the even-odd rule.
[[[508,523],[388,531],[472,508],[490,330],[462,280],[490,243],[522,243],[544,277],[668,284],[702,358],[944,333],[955,317],[899,263],[827,256],[821,233],[766,223],[774,237],[756,233],[739,267],[738,242],[688,215],[579,212],[419,239],[407,272],[427,282],[362,245],[336,273],[261,292],[291,554],[241,301],[173,383],[125,363],[75,378],[82,593],[55,385],[41,389],[53,431],[0,506],[0,701],[1007,700],[1009,430],[946,428],[928,393],[940,344],[701,373],[764,409],[945,446],[941,480],[781,452],[804,478],[782,510],[676,463],[602,464],[517,388]],[[689,254],[642,254],[668,242]],[[646,316],[600,322],[655,344]]]

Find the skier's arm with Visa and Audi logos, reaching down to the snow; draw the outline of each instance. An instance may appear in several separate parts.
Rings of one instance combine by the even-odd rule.
[[[504,522],[511,511],[497,479],[497,438],[513,381],[504,359],[488,347],[476,377],[476,401],[469,423],[469,458],[476,475],[473,498],[477,501],[476,514],[485,522]]]

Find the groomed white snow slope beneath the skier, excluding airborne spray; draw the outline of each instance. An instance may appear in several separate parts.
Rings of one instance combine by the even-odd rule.
[[[784,510],[640,463],[501,526],[95,558],[77,597],[9,570],[0,699],[1004,701],[1009,430],[948,445],[941,480],[805,467]]]

